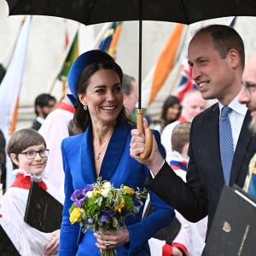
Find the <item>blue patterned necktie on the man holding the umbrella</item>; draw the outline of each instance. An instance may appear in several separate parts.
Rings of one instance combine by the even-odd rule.
[[[225,106],[221,110],[219,119],[219,148],[224,172],[224,181],[228,185],[230,183],[230,171],[234,156],[234,146],[232,138],[232,130],[230,125],[229,113],[232,109]]]

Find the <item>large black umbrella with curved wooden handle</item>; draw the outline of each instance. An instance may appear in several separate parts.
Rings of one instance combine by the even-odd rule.
[[[139,20],[137,127],[143,131],[142,20],[191,24],[227,16],[256,16],[255,0],[6,0],[9,15],[48,15],[76,20],[84,25],[111,21]],[[152,137],[145,131],[146,138]],[[147,140],[146,158],[152,148]]]

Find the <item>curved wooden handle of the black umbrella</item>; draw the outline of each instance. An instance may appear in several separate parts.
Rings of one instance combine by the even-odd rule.
[[[147,159],[151,154],[153,147],[153,133],[149,128],[144,129],[143,126],[143,109],[137,109],[137,130],[145,134],[145,149],[140,154],[140,158]]]

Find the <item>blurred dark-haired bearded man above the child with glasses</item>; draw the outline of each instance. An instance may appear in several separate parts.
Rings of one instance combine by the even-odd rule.
[[[39,130],[41,125],[44,123],[44,119],[48,114],[55,108],[56,99],[49,93],[42,93],[36,97],[34,108],[36,119],[33,120],[31,128]]]

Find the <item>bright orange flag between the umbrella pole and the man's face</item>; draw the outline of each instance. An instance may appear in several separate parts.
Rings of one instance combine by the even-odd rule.
[[[161,86],[165,83],[166,78],[172,71],[172,67],[177,59],[177,52],[183,38],[184,24],[176,24],[154,69],[154,77],[151,86],[151,92],[148,105],[154,101],[154,97],[159,92]]]

